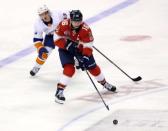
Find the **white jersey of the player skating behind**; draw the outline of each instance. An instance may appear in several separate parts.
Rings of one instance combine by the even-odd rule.
[[[53,11],[50,12],[52,17],[52,25],[47,26],[40,17],[36,20],[34,24],[34,39],[33,41],[36,42],[42,42],[43,41],[43,34],[50,35],[54,34],[54,31],[63,19],[66,19],[69,17],[68,11]]]

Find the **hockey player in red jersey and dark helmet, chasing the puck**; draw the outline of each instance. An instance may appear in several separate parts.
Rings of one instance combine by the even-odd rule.
[[[63,20],[57,26],[54,43],[59,47],[63,75],[57,84],[56,102],[64,103],[65,101],[63,91],[75,73],[74,58],[79,62],[77,68],[88,70],[103,87],[112,92],[116,91],[116,87],[106,81],[100,67],[95,62],[92,54],[93,41],[91,29],[83,22],[80,10],[72,10],[70,19]]]

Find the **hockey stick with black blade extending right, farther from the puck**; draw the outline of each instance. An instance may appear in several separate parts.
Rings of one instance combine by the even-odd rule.
[[[100,50],[98,50],[95,46],[93,46],[93,48],[99,52],[102,56],[104,56],[111,64],[113,64],[115,67],[117,67],[122,73],[124,73],[128,78],[130,78],[132,81],[140,81],[142,79],[141,76],[138,76],[136,78],[132,78],[131,76],[129,76],[125,71],[123,71],[120,67],[118,67],[112,60],[110,60],[106,55],[104,55]]]

